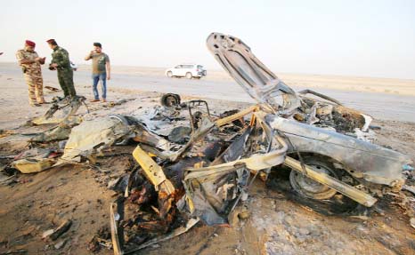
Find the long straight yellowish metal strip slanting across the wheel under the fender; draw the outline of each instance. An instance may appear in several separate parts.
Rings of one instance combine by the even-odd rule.
[[[304,173],[301,163],[292,157],[286,156],[284,164],[295,171]],[[350,197],[357,203],[362,203],[364,206],[370,207],[378,201],[373,196],[355,187],[349,186],[326,173],[315,171],[312,167],[307,165],[305,165],[305,176],[337,190],[339,193]]]

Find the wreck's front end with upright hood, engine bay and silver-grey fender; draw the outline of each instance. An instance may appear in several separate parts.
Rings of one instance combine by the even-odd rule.
[[[370,116],[317,92],[294,92],[234,36],[212,33],[207,45],[235,81],[265,106],[267,122],[289,139],[289,152],[327,156],[373,189],[381,188],[373,184],[402,187],[409,157],[350,136],[368,131]],[[305,97],[308,93],[320,99]]]

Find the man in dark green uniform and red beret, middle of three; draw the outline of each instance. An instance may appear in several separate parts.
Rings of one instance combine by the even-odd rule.
[[[49,69],[58,70],[58,80],[65,98],[74,98],[77,95],[74,87],[74,71],[70,67],[69,53],[58,46],[54,39],[46,41],[53,49],[52,60]]]

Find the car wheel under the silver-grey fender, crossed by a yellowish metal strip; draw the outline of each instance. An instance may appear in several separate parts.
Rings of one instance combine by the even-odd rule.
[[[314,170],[329,174],[338,179],[333,163],[321,157],[305,157],[303,161],[306,165],[313,167]],[[313,179],[306,177],[299,171],[292,170],[289,173],[289,183],[299,195],[317,200],[330,199],[336,195],[337,191],[327,187]]]

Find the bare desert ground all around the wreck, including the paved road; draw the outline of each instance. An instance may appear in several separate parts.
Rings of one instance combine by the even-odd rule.
[[[207,100],[214,114],[254,103],[221,71],[208,71],[200,81],[168,79],[162,68],[114,67],[107,103],[88,103],[85,119],[110,114],[129,115],[138,108],[159,105],[161,92],[179,92],[183,101]],[[45,85],[59,88],[56,74],[44,69]],[[375,109],[377,143],[415,160],[415,81],[341,76],[281,74],[295,89],[310,88],[341,95],[346,105]],[[89,67],[75,73],[78,94],[91,98]],[[222,87],[224,84],[227,87]],[[222,88],[218,92],[217,88]],[[41,116],[48,106],[28,106],[26,85],[15,64],[0,63],[0,130],[14,134],[0,139],[0,155],[17,155],[28,148],[27,134],[47,127],[24,124]],[[233,94],[234,93],[234,94]],[[61,92],[46,92],[46,100]],[[370,97],[359,101],[359,95]],[[368,96],[369,95],[369,96]],[[112,102],[123,101],[113,106]],[[84,112],[83,112],[84,110]],[[405,111],[405,112],[402,112]],[[399,115],[401,114],[401,115]],[[113,147],[115,157],[99,160],[100,169],[67,165],[36,174],[20,175],[12,186],[0,186],[0,252],[25,249],[28,254],[90,254],[88,242],[99,229],[109,227],[114,192],[106,185],[126,171],[134,147]],[[124,154],[123,154],[124,153]],[[8,163],[2,159],[2,166]],[[408,194],[409,195],[409,194]],[[385,196],[370,217],[324,216],[297,203],[273,182],[256,179],[244,206],[250,217],[233,227],[198,225],[189,232],[137,254],[413,254],[414,229],[400,198]],[[41,240],[42,233],[72,219],[69,232],[56,242]],[[65,241],[56,249],[54,244]],[[278,253],[278,252],[280,253]],[[24,253],[22,253],[24,254]],[[105,248],[97,254],[112,254]]]

